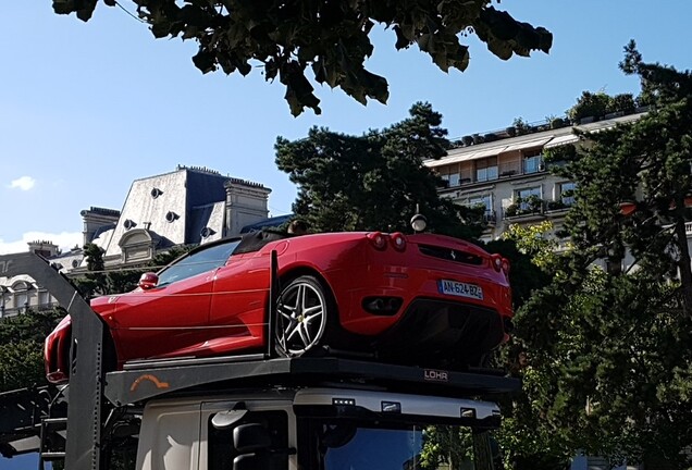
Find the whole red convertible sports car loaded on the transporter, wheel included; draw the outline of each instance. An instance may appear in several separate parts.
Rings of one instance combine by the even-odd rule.
[[[280,281],[273,309],[272,251]],[[441,235],[257,233],[202,245],[144,274],[133,292],[92,299],[91,308],[108,325],[110,370],[137,359],[264,351],[268,342],[282,356],[359,350],[468,366],[506,338],[508,270],[499,255]],[[49,381],[69,379],[70,345],[66,317],[46,339]]]

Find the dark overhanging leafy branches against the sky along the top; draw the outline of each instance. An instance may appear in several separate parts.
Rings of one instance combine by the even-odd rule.
[[[156,38],[181,37],[199,45],[193,62],[203,73],[250,73],[259,65],[264,78],[279,78],[294,115],[320,100],[306,75],[341,88],[366,104],[386,102],[384,77],[368,71],[374,52],[370,34],[375,24],[391,29],[397,50],[417,45],[444,72],[466,70],[468,47],[460,36],[475,34],[491,52],[507,60],[548,52],[553,36],[498,11],[492,0],[132,0],[139,18]],[[98,0],[53,0],[59,14],[76,13],[88,21]],[[103,0],[114,7],[115,0]],[[499,1],[497,2],[499,3]],[[308,70],[310,72],[308,72]]]

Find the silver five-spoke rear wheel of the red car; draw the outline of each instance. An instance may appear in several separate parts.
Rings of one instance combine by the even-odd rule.
[[[282,288],[276,305],[274,338],[281,356],[316,351],[333,331],[336,309],[319,280],[302,275]]]

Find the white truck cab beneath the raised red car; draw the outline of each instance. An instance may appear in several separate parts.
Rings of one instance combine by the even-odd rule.
[[[489,401],[355,388],[160,399],[141,418],[137,470],[375,470],[420,466],[432,425],[492,429]]]

